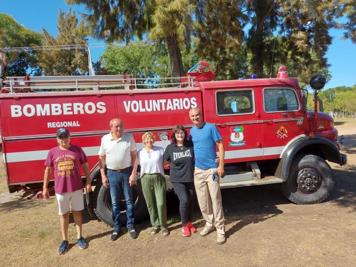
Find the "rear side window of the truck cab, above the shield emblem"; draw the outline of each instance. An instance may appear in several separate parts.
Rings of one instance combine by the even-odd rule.
[[[251,89],[217,91],[216,103],[218,115],[238,115],[255,111]]]

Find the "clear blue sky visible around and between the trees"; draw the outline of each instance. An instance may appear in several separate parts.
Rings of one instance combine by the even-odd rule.
[[[57,35],[57,18],[59,8],[68,10],[65,0],[3,0],[0,5],[0,13],[12,15],[20,24],[26,28],[41,32],[41,27],[46,31]],[[77,12],[85,12],[83,6],[72,7]],[[331,30],[333,38],[332,45],[326,53],[332,79],[325,89],[337,86],[353,86],[356,84],[356,45],[350,40],[341,40],[342,31]],[[89,39],[89,44],[101,44],[102,41]],[[91,48],[93,61],[97,61],[103,48]]]

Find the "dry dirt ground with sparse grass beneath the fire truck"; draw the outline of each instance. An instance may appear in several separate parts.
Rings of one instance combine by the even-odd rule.
[[[178,201],[169,196],[171,234],[149,234],[149,221],[135,226],[132,240],[125,233],[110,241],[111,228],[84,212],[83,235],[89,248],[75,245],[75,226],[69,228],[70,249],[57,255],[61,242],[57,203],[18,200],[9,195],[0,168],[0,266],[332,266],[356,264],[356,125],[336,123],[345,135],[348,165],[331,164],[335,185],[320,204],[295,205],[279,185],[225,189],[223,207],[227,242],[216,244],[216,232],[181,236]],[[204,222],[198,207],[194,224]]]

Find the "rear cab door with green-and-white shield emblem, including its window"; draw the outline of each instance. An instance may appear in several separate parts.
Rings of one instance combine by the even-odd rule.
[[[215,124],[223,137],[225,162],[263,158],[260,113],[254,89],[219,89],[215,95]]]

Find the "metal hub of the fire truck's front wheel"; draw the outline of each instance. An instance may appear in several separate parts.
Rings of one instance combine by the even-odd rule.
[[[321,185],[321,178],[318,172],[312,168],[305,168],[299,171],[297,177],[297,189],[304,194],[316,192]]]

